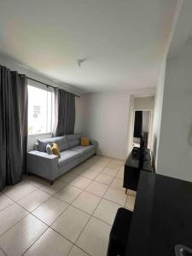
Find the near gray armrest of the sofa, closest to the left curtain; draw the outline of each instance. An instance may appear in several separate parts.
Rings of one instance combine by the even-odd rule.
[[[54,180],[59,173],[59,159],[55,154],[47,154],[37,150],[27,153],[27,172],[32,172],[38,176]]]

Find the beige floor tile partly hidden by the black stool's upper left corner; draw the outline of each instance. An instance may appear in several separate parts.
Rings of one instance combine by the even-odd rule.
[[[96,211],[93,213],[93,216],[100,218],[102,221],[112,225],[119,207],[121,206],[112,201],[102,199],[98,207],[96,207]]]

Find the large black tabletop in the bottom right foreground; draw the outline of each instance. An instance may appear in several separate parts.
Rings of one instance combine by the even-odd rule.
[[[192,247],[192,183],[141,172],[127,256],[174,256]]]

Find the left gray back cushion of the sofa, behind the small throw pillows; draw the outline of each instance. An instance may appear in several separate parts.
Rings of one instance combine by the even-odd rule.
[[[52,143],[57,143],[61,151],[68,149],[67,137],[61,136],[61,137],[49,137],[46,139],[38,140],[39,151],[46,152],[47,144],[52,145]]]

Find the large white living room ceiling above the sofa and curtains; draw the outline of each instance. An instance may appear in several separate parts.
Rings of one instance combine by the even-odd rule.
[[[0,0],[0,52],[86,92],[154,87],[176,3]]]

